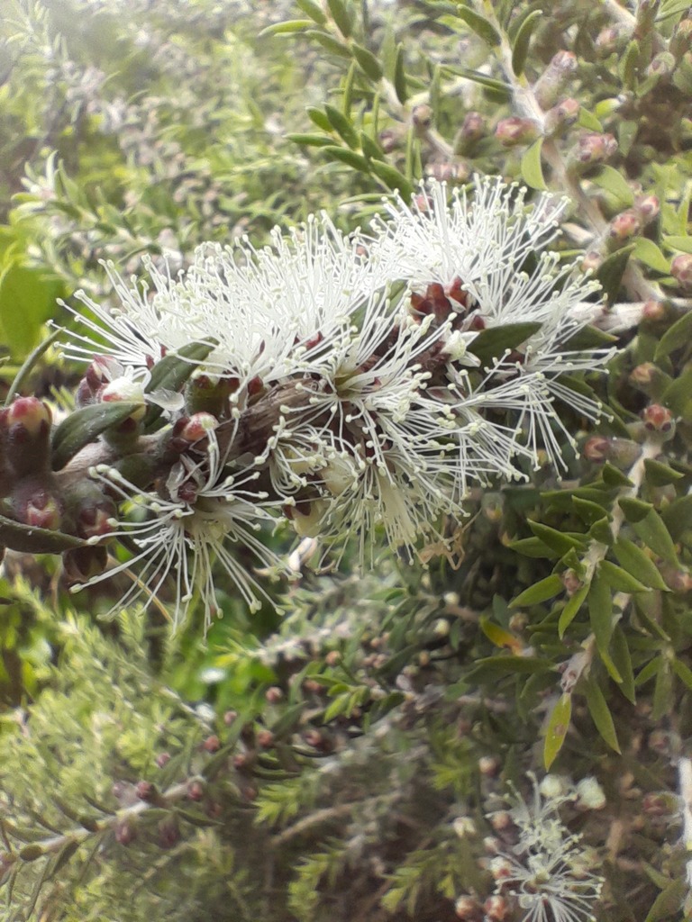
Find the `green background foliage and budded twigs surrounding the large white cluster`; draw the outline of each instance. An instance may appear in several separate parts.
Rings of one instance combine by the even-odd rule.
[[[617,347],[588,381],[610,415],[567,416],[567,477],[471,495],[425,567],[316,573],[304,545],[283,614],[220,584],[205,639],[170,636],[165,594],[101,621],[117,585],[70,597],[8,552],[8,919],[690,917],[691,47],[678,0],[6,0],[5,387],[71,323],[56,298],[113,298],[101,260],[177,271],[320,209],[349,230],[474,171],[567,195],[560,252],[601,280],[591,337]],[[25,390],[77,380],[48,349]],[[531,803],[547,770],[573,796],[536,825],[559,814],[604,878],[573,916],[493,874],[520,839],[508,785]]]

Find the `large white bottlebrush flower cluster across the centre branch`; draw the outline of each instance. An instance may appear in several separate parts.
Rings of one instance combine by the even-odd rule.
[[[149,428],[145,415],[126,451],[118,442],[148,455],[148,478],[110,460],[92,472],[121,507],[134,502],[114,534],[135,541],[154,592],[176,574],[179,616],[196,590],[214,609],[214,559],[257,601],[228,545],[275,563],[256,533],[268,519],[326,546],[356,536],[362,558],[381,527],[411,557],[422,536],[444,539],[441,519],[463,515],[474,486],[526,478],[542,453],[564,464],[574,442],[556,399],[598,415],[566,377],[606,358],[570,348],[597,286],[543,252],[559,203],[487,179],[472,198],[447,204],[429,183],[412,207],[386,208],[350,237],[323,215],[264,249],[202,246],[185,273],[149,266],[151,289],[110,267],[117,309],[77,295],[90,313],[66,354],[91,361],[92,378],[122,372],[105,396],[82,388],[87,402],[117,399],[119,382],[132,399],[142,382],[168,415]],[[171,395],[157,369],[175,357],[188,367]]]

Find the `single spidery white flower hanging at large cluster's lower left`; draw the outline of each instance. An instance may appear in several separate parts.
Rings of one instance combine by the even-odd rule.
[[[138,490],[112,467],[102,465],[91,473],[124,506],[132,507],[134,514],[113,522],[111,537],[129,538],[139,553],[93,577],[86,585],[137,568],[137,581],[118,602],[121,608],[143,596],[148,603],[173,579],[174,623],[185,620],[189,605],[198,594],[209,627],[218,610],[213,571],[219,564],[250,608],[259,608],[259,597],[266,597],[266,593],[236,558],[233,548],[241,552],[250,550],[259,566],[271,569],[280,565],[257,535],[263,522],[273,521],[267,508],[267,493],[253,489],[258,474],[252,468],[236,477],[226,472],[213,430],[209,431],[204,457],[192,461],[190,456],[183,455],[172,467],[166,482],[168,499]]]

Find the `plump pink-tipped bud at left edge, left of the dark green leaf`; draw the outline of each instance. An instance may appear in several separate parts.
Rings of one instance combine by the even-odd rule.
[[[50,469],[53,415],[37,397],[17,397],[5,410],[6,460],[19,476]]]

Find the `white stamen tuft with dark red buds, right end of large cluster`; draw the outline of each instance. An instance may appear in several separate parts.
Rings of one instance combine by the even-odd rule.
[[[561,443],[573,439],[554,399],[590,419],[601,411],[559,376],[602,365],[610,350],[566,348],[588,323],[586,299],[599,286],[577,266],[561,266],[557,254],[544,252],[559,232],[563,204],[539,195],[529,205],[525,195],[499,179],[479,179],[472,199],[466,189],[455,189],[447,204],[446,185],[426,183],[411,207],[399,199],[386,206],[388,220],[375,220],[372,258],[378,272],[409,285],[415,310],[448,320],[455,334],[539,325],[495,363],[493,379],[524,379],[522,421],[534,458],[541,445],[559,465]]]

